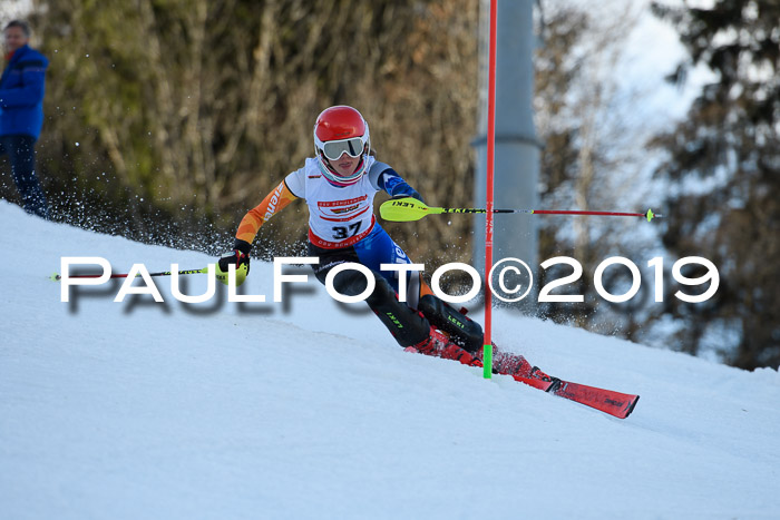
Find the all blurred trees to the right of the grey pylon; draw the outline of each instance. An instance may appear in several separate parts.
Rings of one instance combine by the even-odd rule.
[[[654,188],[663,194],[657,207],[666,216],[654,223],[669,264],[664,302],[652,304],[645,295],[647,305],[621,305],[616,307],[620,312],[613,312],[597,298],[587,297],[594,293],[589,274],[601,259],[612,254],[631,257],[632,253],[642,258],[643,246],[653,245],[640,238],[633,225],[543,220],[539,257],[576,258],[585,274],[565,291],[586,298],[582,304],[547,304],[540,311],[557,322],[642,341],[652,342],[653,331],[673,328],[676,332],[665,344],[681,351],[714,351],[725,362],[744,369],[777,367],[780,3],[719,0],[709,8],[670,8],[656,2],[653,11],[675,27],[690,55],[675,70],[666,71],[667,79],[680,84],[700,65],[718,78],[702,87],[673,131],[650,143],[665,156]],[[581,209],[616,205],[622,197],[612,193],[610,181],[616,171],[625,175],[631,168],[617,168],[614,161],[615,148],[620,148],[616,136],[604,134],[598,125],[594,131],[588,106],[603,104],[608,112],[610,96],[607,86],[587,77],[587,69],[594,52],[606,53],[620,46],[620,29],[604,30],[601,20],[577,7],[559,7],[545,14],[544,46],[536,59],[537,117],[545,143],[542,204]],[[593,48],[595,39],[603,41],[601,50]],[[577,86],[586,87],[585,97],[576,95]],[[616,128],[620,131],[620,125]],[[685,256],[709,258],[719,268],[720,287],[706,303],[691,304],[673,295],[677,286],[671,277],[671,264]],[[689,266],[683,275],[696,277],[704,271]],[[545,274],[557,279],[569,273],[571,268],[563,268]],[[645,277],[643,285],[652,285],[652,277]],[[699,290],[682,288],[703,292],[706,284]],[[614,324],[614,332],[610,324]]]

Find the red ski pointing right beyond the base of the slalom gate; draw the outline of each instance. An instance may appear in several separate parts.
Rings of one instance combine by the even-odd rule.
[[[601,412],[608,413],[618,419],[627,418],[634,411],[636,403],[640,400],[638,395],[625,394],[612,390],[597,389],[585,384],[572,383],[558,377],[543,375],[540,377],[526,377],[523,375],[513,375],[515,381],[525,383],[535,389],[544,390],[545,392],[557,395],[558,398],[568,399],[579,404],[594,408]]]

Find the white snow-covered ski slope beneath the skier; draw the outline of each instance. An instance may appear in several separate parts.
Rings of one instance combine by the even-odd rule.
[[[286,305],[185,305],[167,277],[164,304],[118,283],[61,303],[62,256],[213,258],[6,202],[0,223],[0,518],[780,518],[776,371],[498,313],[548,373],[640,393],[618,420],[404,353],[313,277]],[[246,293],[271,279],[254,263]]]

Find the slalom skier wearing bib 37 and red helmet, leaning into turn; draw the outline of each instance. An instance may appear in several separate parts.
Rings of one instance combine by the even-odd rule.
[[[295,198],[309,207],[309,256],[319,257],[314,275],[325,283],[335,266],[353,262],[371,269],[374,290],[365,302],[410,352],[420,352],[464,364],[481,366],[482,328],[438,298],[417,272],[407,276],[406,303],[399,301],[398,272],[381,271],[381,264],[409,264],[411,259],[379,225],[373,197],[384,190],[391,197],[422,200],[396,170],[371,154],[369,125],[352,107],[335,106],[322,111],[314,124],[315,156],[287,175],[238,225],[233,251],[223,255],[217,278],[227,283],[230,264],[236,281],[250,271],[250,251],[260,227]],[[345,269],[333,278],[340,294],[355,296],[368,287],[365,276]],[[494,371],[530,371],[519,355],[494,354]]]

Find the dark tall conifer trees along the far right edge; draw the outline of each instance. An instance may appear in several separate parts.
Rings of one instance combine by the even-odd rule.
[[[691,67],[716,73],[684,121],[656,145],[669,154],[665,246],[715,263],[721,285],[708,305],[666,301],[684,321],[691,353],[716,345],[735,366],[780,364],[780,3],[716,0],[711,8],[655,12],[674,24]],[[691,273],[695,276],[698,273]]]

